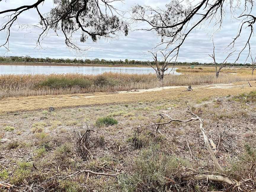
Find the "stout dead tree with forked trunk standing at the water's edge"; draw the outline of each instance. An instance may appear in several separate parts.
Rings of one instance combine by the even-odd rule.
[[[169,66],[169,64],[171,63],[171,60],[172,60],[174,57],[176,57],[176,55],[173,56],[173,57],[168,61],[168,57],[170,56],[170,53],[164,54],[163,52],[161,52],[161,54],[162,54],[163,57],[164,57],[164,61],[161,62],[161,64],[160,64],[160,63],[159,63],[159,60],[157,60],[157,53],[153,53],[153,52],[151,52],[151,51],[149,51],[149,52],[153,55],[153,59],[154,59],[154,62],[155,62],[156,67],[153,67],[149,61],[148,61],[148,65],[151,66],[151,67],[156,71],[156,78],[159,79],[159,81],[163,81],[163,80],[164,80],[164,75],[165,75],[164,72],[169,69],[168,66]],[[176,59],[175,59],[175,62],[176,62]],[[172,64],[173,64],[172,70],[174,70],[175,62],[172,63]],[[171,70],[171,71],[172,71],[172,70]],[[171,71],[170,71],[170,72],[171,72]],[[169,73],[170,73],[170,72],[169,72]]]

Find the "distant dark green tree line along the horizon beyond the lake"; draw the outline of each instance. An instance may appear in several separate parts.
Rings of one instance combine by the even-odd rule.
[[[105,60],[105,59],[64,59],[64,58],[34,58],[30,56],[18,57],[18,56],[9,56],[9,57],[0,57],[0,62],[28,62],[28,63],[76,63],[76,64],[96,64],[96,65],[148,65],[148,61],[140,61],[140,60]],[[154,63],[155,61],[151,61],[150,63]],[[162,64],[163,61],[159,61],[159,64]],[[171,64],[171,63],[170,63]],[[217,65],[221,65],[221,63],[216,63]],[[250,63],[226,63],[227,65],[234,66],[250,66]],[[200,63],[200,62],[177,62],[175,65],[214,65],[214,63]]]

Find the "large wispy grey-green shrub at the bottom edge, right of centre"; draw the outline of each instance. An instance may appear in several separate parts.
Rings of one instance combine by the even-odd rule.
[[[156,145],[142,150],[134,160],[132,173],[118,176],[122,191],[167,191],[168,182],[164,177],[181,177],[183,169],[179,167],[188,167],[189,163],[176,156],[167,156],[158,148]]]

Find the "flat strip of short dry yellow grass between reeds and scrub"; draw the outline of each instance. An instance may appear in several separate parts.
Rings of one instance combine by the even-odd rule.
[[[114,93],[94,93],[76,95],[44,95],[30,97],[10,97],[0,100],[0,113],[15,111],[32,111],[37,109],[77,107],[89,105],[109,105],[134,102],[152,102],[161,100],[190,100],[205,97],[222,97],[239,93],[255,91],[255,81],[236,82],[232,84],[206,84],[193,86],[193,91],[185,91],[186,86],[158,87],[153,89],[141,89],[121,91]],[[241,89],[244,85],[244,88]]]

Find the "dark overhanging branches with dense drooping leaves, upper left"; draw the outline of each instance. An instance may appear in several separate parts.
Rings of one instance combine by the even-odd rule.
[[[47,36],[49,30],[57,35],[62,33],[69,48],[81,51],[76,44],[75,33],[80,35],[80,41],[86,42],[90,37],[97,41],[101,37],[111,38],[118,32],[128,34],[128,25],[120,19],[119,11],[113,6],[113,0],[53,0],[55,7],[48,13],[42,13],[40,6],[46,0],[34,0],[31,5],[23,5],[15,9],[6,9],[0,12],[3,17],[1,31],[6,31],[6,39],[0,47],[9,50],[9,37],[15,24],[19,25],[18,18],[30,9],[36,9],[40,18],[38,25],[19,25],[21,28],[36,27],[41,29],[37,46]],[[121,0],[115,0],[121,1]],[[0,4],[7,3],[0,0]],[[1,5],[0,5],[1,6]]]

